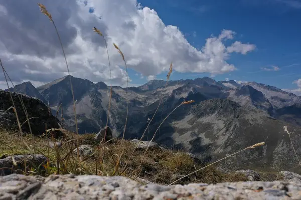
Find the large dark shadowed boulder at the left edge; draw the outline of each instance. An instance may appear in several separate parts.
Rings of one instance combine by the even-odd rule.
[[[48,107],[41,100],[24,94],[11,94],[23,132],[30,133],[30,128],[22,104],[27,111],[30,127],[34,135],[42,135],[45,132],[45,125],[47,129],[60,128],[59,120],[49,113]],[[22,102],[20,102],[20,99]],[[10,92],[0,90],[0,102],[0,127],[18,131],[17,118],[14,110],[11,108],[13,103]],[[56,134],[60,134],[60,132],[56,132]]]

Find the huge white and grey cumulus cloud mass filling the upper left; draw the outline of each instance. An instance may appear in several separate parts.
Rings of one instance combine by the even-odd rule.
[[[35,1],[0,2],[0,57],[14,82],[42,84],[66,75],[55,30]],[[255,45],[240,41],[226,47],[224,41],[234,39],[235,32],[222,30],[197,50],[176,26],[165,25],[155,10],[142,7],[136,0],[39,2],[53,16],[71,74],[93,82],[109,82],[110,78],[105,43],[92,31],[94,26],[108,42],[113,83],[119,85],[125,84],[126,72],[113,42],[123,51],[128,67],[147,79],[168,71],[170,62],[173,70],[182,73],[226,73],[236,69],[227,62],[231,53],[245,55],[255,49]]]

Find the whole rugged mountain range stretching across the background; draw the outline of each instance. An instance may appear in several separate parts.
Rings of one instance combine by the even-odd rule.
[[[35,88],[25,82],[10,88],[49,104],[64,128],[75,131],[73,98],[70,78],[76,99],[75,107],[79,133],[98,132],[106,125],[113,134],[123,132],[127,102],[129,117],[125,138],[140,138],[152,118],[160,98],[157,114],[146,131],[144,140],[150,140],[161,121],[185,100],[193,104],[181,105],[162,124],[155,141],[173,148],[183,148],[200,155],[204,161],[238,151],[265,141],[263,148],[246,151],[223,162],[224,168],[268,167],[299,170],[283,126],[288,126],[293,144],[301,154],[301,96],[274,86],[256,82],[237,83],[234,80],[215,81],[209,77],[163,81],[152,80],[139,87],[110,87],[103,82],[65,76]],[[239,161],[237,161],[239,160]]]

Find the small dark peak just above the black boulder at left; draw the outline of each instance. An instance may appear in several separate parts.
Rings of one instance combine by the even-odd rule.
[[[5,91],[8,91],[6,89]],[[10,88],[11,92],[22,93],[34,98],[42,100],[47,105],[47,100],[39,93],[39,91],[32,85],[31,82],[23,82],[21,84],[15,85],[14,88]]]

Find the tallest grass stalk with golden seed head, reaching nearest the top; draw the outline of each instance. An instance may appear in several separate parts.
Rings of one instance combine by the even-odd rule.
[[[70,70],[69,70],[69,66],[68,66],[68,62],[67,62],[65,50],[64,50],[64,47],[63,47],[63,44],[62,44],[62,40],[61,40],[60,34],[58,32],[58,29],[57,29],[57,27],[55,25],[55,22],[52,19],[51,14],[48,12],[48,10],[46,9],[46,7],[43,4],[38,3],[38,5],[40,7],[40,11],[49,18],[50,22],[52,22],[52,24],[53,24],[53,26],[55,28],[56,34],[58,36],[58,39],[59,39],[62,51],[63,51],[63,55],[64,55],[64,59],[65,59],[65,63],[66,63],[66,67],[67,67],[67,71],[68,71],[68,75],[69,75],[69,81],[70,81],[70,87],[71,87],[71,93],[72,93],[72,99],[73,99],[73,111],[74,111],[74,119],[75,119],[75,126],[76,126],[76,134],[78,135],[78,122],[77,122],[77,114],[76,114],[76,108],[75,108],[75,102],[76,101],[75,101],[75,98],[74,98],[74,90],[73,90],[73,86],[72,86],[72,81],[71,81],[71,76],[70,76]],[[78,159],[78,163],[80,163],[78,138],[77,138],[77,159]]]

